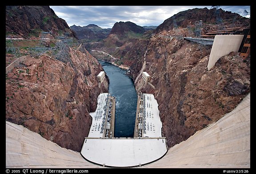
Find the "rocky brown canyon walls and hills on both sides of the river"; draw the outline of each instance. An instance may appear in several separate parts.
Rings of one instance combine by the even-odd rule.
[[[226,27],[250,27],[250,19],[238,14],[222,10],[220,15]],[[76,32],[48,7],[7,7],[6,19],[10,36],[36,38],[39,33],[34,31],[40,29],[51,31],[53,37],[68,32],[77,39]],[[208,70],[211,46],[184,40],[192,36],[188,26],[198,20],[214,23],[213,9],[179,12],[148,31],[130,22],[116,23],[102,41],[69,47],[64,62],[48,53],[26,58],[23,66],[6,73],[6,121],[79,152],[92,123],[89,112],[95,111],[98,95],[108,92],[108,78],[100,87],[96,78],[103,68],[91,49],[98,48],[130,67],[128,75],[137,92],[154,94],[168,147],[187,140],[231,112],[250,93],[250,56],[243,59],[239,52],[231,52]],[[209,30],[202,29],[203,33]],[[143,71],[152,76],[155,89],[144,83]]]

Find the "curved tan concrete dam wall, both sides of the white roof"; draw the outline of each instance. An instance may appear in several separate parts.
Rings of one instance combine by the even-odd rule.
[[[6,121],[7,168],[103,168]],[[250,93],[230,113],[142,168],[250,168]]]

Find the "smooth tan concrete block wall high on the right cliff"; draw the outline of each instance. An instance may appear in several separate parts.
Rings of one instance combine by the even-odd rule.
[[[216,35],[207,65],[210,70],[215,63],[224,55],[232,51],[238,51],[244,35]]]

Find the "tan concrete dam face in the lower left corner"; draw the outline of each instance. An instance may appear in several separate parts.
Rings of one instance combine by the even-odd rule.
[[[6,121],[7,168],[97,168],[79,152],[58,146],[39,134]]]

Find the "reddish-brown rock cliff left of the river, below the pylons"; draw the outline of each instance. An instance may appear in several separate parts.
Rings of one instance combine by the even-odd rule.
[[[89,112],[96,110],[98,95],[108,92],[108,78],[99,88],[99,62],[84,48],[68,52],[67,63],[45,54],[6,74],[6,120],[80,152],[92,122]]]

